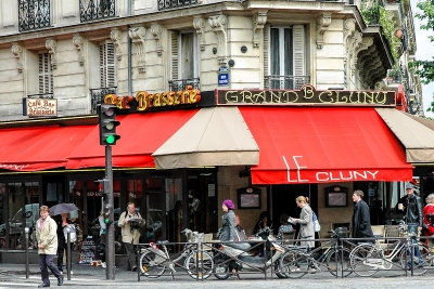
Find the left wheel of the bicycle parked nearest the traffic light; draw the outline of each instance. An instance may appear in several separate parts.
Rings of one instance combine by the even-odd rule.
[[[146,250],[140,255],[140,272],[149,278],[158,278],[166,271],[165,262],[162,250]]]

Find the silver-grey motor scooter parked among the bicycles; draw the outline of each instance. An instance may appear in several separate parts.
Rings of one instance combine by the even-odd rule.
[[[276,270],[279,278],[286,278],[285,274],[280,273],[281,260],[285,254],[285,249],[270,236],[269,227],[263,228],[255,236],[265,240],[264,246],[267,248],[264,255],[253,255],[252,249],[258,248],[251,242],[226,242],[221,244],[218,253],[214,258],[215,268],[214,276],[218,279],[227,279],[232,275],[232,268],[238,273],[242,272],[265,272],[270,266]]]

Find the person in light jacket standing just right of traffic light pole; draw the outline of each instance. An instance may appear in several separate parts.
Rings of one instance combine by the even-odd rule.
[[[128,254],[127,270],[131,268],[131,271],[136,271],[136,251],[133,245],[139,244],[140,226],[144,225],[144,220],[139,212],[136,212],[136,205],[133,202],[128,202],[127,211],[120,214],[117,224],[122,227],[123,242]]]

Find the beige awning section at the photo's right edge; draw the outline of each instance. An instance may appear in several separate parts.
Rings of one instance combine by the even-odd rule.
[[[434,162],[434,121],[393,108],[375,110],[405,146],[408,162]]]

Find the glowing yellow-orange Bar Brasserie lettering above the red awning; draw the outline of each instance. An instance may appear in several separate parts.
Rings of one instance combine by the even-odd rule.
[[[201,101],[201,91],[187,87],[184,91],[170,91],[163,93],[148,93],[139,91],[136,97],[117,96],[107,94],[104,97],[105,104],[114,104],[120,109],[130,109],[131,105],[137,106],[138,111],[144,111],[152,107],[170,107],[182,104],[195,104]]]

